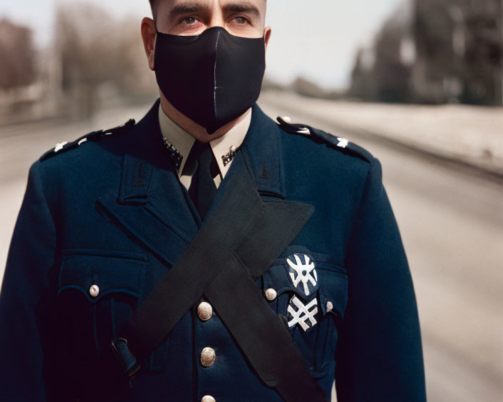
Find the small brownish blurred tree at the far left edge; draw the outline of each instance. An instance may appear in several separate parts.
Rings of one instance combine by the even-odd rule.
[[[0,88],[26,86],[36,78],[36,51],[31,29],[0,20]]]

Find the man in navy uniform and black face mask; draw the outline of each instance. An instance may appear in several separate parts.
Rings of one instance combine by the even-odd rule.
[[[265,0],[155,0],[160,101],[35,162],[0,293],[5,400],[424,401],[377,159],[265,116]],[[337,365],[336,365],[337,362]]]

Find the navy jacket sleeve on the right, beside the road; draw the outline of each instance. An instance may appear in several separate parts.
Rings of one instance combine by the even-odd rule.
[[[374,159],[346,254],[348,305],[337,346],[338,402],[426,401],[412,278]]]

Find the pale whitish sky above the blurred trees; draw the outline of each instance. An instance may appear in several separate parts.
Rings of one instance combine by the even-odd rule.
[[[0,18],[29,25],[36,42],[50,42],[55,6],[78,0],[3,0]],[[81,1],[81,0],[80,0]],[[118,17],[150,15],[148,0],[87,0]],[[384,20],[407,0],[269,0],[267,24],[272,36],[267,74],[288,83],[304,76],[318,84],[349,83],[355,53],[370,45]]]

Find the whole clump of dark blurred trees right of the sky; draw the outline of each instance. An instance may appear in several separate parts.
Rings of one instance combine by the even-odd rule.
[[[350,95],[385,102],[503,104],[503,2],[408,0],[360,52]]]

